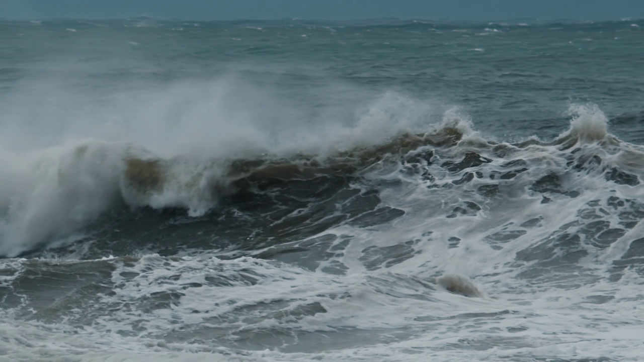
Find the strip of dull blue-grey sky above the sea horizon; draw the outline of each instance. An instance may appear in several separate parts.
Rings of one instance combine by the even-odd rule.
[[[0,18],[644,18],[644,0],[0,0]]]

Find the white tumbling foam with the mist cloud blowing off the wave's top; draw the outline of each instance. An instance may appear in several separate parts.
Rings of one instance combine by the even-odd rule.
[[[15,256],[82,231],[119,198],[133,207],[204,214],[220,197],[214,186],[231,158],[324,157],[440,120],[431,102],[395,92],[359,97],[357,104],[338,99],[337,110],[317,115],[324,122],[303,122],[307,111],[298,104],[233,76],[161,90],[133,86],[101,102],[56,79],[24,82],[12,93],[0,122],[0,254]],[[33,99],[42,100],[39,107],[29,106]],[[62,106],[70,102],[79,107]],[[163,187],[130,187],[124,171],[131,157],[163,160]]]

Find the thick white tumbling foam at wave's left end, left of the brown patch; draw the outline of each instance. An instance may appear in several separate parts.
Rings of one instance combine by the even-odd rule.
[[[3,163],[0,254],[15,256],[95,220],[118,195],[125,151],[85,141]]]

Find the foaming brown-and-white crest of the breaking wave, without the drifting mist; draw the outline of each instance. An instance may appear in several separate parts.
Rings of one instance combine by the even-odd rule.
[[[585,158],[579,156],[583,160],[580,158],[579,165],[571,167],[591,167],[592,160],[600,160],[593,162],[601,164],[598,172],[607,173],[607,180],[639,184],[637,176],[619,169],[621,164],[630,167],[632,160],[627,156],[639,155],[638,151],[607,133],[607,120],[601,110],[592,105],[573,105],[570,113],[570,129],[552,142],[530,138],[517,144],[499,144],[485,140],[471,130],[468,121],[450,111],[433,131],[403,131],[384,142],[365,145],[361,141],[354,148],[311,154],[272,155],[254,151],[254,157],[242,158],[216,155],[160,158],[139,146],[96,140],[28,155],[4,152],[0,153],[5,171],[0,182],[3,222],[0,255],[15,256],[43,243],[56,245],[52,240],[82,230],[119,204],[133,208],[181,208],[191,216],[200,216],[222,197],[242,191],[256,192],[320,176],[359,176],[380,164],[410,165],[404,166],[410,169],[413,165],[429,165],[435,161],[435,150],[440,150],[444,158],[441,172],[459,174],[462,178],[453,182],[459,185],[475,176],[460,175],[460,171],[492,162],[480,157],[477,154],[480,152],[488,153],[488,157],[509,158],[533,146],[541,147],[545,153],[561,152],[582,143],[596,142],[601,148],[602,141],[610,139],[611,146],[624,146],[618,146],[625,150],[618,152],[618,157],[609,157],[611,162],[601,163],[601,158],[590,154]],[[523,171],[518,169],[515,173]]]

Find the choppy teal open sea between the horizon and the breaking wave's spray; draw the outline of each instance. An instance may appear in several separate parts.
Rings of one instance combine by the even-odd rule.
[[[3,87],[25,77],[70,86],[204,79],[236,73],[303,107],[341,106],[344,93],[400,91],[459,106],[500,137],[553,137],[569,102],[594,102],[626,140],[641,119],[641,21],[50,21],[2,24]],[[36,72],[34,74],[34,72]],[[147,85],[147,84],[146,84]],[[340,89],[322,89],[336,85]],[[343,93],[344,92],[344,93]],[[340,104],[337,104],[339,102]],[[622,133],[620,133],[622,132]],[[631,138],[633,137],[633,138]]]

